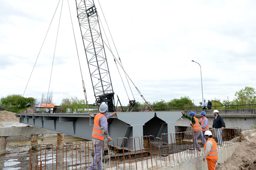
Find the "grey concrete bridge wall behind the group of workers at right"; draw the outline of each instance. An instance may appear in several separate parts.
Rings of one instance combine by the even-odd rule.
[[[201,111],[194,111],[195,116],[200,119]],[[218,110],[219,115],[221,115],[224,119],[226,127],[241,127],[242,130],[250,130],[256,127],[256,111],[255,109],[225,109]],[[184,111],[185,114],[189,114],[190,111]],[[209,127],[212,127],[213,123],[213,110],[206,110],[207,118],[209,119]],[[182,114],[180,113],[180,116]],[[182,119],[178,119],[176,121],[175,126],[186,126],[189,127],[191,123],[188,119],[182,117]]]

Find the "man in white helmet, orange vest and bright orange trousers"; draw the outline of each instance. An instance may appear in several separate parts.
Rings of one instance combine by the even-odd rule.
[[[205,131],[205,138],[207,141],[204,144],[204,156],[207,160],[208,170],[215,170],[215,165],[218,161],[217,145],[214,139],[212,139],[212,132],[210,130]]]

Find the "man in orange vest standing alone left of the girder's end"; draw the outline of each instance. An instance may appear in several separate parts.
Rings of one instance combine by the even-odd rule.
[[[108,105],[106,105],[105,103],[102,103],[99,106],[99,113],[94,117],[94,125],[93,125],[93,133],[92,133],[94,157],[93,157],[92,163],[90,164],[89,168],[87,168],[87,170],[102,169],[101,158],[102,158],[102,153],[104,152],[103,140],[104,139],[112,140],[108,134],[107,119],[116,115],[116,112],[110,115],[106,115],[107,111],[108,111]]]

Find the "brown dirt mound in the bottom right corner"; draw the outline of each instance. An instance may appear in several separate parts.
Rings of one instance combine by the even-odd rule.
[[[256,170],[256,129],[244,130],[242,135],[244,140],[233,156],[218,164],[216,170]]]

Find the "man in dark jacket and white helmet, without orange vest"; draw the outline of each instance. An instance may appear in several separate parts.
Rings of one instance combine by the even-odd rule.
[[[214,119],[213,119],[213,123],[212,123],[212,128],[215,128],[215,132],[217,135],[217,139],[218,139],[218,145],[222,146],[222,130],[224,130],[224,128],[226,127],[223,118],[219,115],[219,111],[218,110],[214,110],[213,111],[214,114]]]

